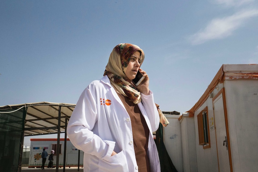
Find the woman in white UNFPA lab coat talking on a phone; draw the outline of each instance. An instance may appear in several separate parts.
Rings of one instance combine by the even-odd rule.
[[[160,171],[152,136],[159,126],[159,114],[148,74],[140,69],[143,60],[144,52],[137,45],[117,45],[104,77],[81,94],[67,134],[84,151],[85,172]],[[135,86],[132,80],[138,70],[145,79]]]

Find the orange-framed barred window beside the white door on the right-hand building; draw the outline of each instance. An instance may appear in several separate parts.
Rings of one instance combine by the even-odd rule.
[[[203,148],[210,147],[210,132],[209,132],[209,119],[208,119],[208,107],[206,106],[198,115],[198,132],[199,132],[199,145],[203,145]]]

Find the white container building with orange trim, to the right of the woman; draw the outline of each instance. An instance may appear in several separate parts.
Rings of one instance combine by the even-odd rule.
[[[178,172],[257,171],[258,64],[222,65],[192,109],[165,116]]]

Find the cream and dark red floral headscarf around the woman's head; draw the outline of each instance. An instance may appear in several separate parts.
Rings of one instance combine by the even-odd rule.
[[[144,60],[144,52],[137,45],[122,43],[116,45],[110,54],[104,76],[107,75],[110,82],[119,92],[130,98],[133,103],[141,102],[140,92],[131,85],[131,80],[125,75],[128,63],[134,52],[140,51],[140,65]]]

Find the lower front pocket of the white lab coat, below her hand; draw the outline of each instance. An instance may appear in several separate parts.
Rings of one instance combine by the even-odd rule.
[[[99,172],[128,172],[128,164],[125,156],[125,151],[122,150],[116,155],[109,158],[100,159],[98,162]]]

